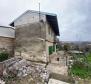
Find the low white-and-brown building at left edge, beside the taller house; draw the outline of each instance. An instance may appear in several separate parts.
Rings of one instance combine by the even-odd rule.
[[[7,51],[10,56],[13,56],[14,40],[14,28],[10,26],[0,26],[0,52]]]

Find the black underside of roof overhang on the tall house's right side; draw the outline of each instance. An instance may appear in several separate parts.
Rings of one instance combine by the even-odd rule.
[[[59,36],[59,27],[58,27],[58,21],[57,21],[57,16],[52,16],[52,15],[46,15],[46,19],[48,23],[51,25],[53,28],[53,31],[57,36]]]

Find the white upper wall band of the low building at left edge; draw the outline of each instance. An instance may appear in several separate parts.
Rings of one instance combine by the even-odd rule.
[[[0,36],[14,38],[15,30],[11,27],[0,27]]]

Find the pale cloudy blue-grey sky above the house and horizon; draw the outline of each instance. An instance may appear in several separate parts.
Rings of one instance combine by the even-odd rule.
[[[0,0],[0,25],[8,25],[26,10],[55,13],[60,41],[91,41],[91,0]]]

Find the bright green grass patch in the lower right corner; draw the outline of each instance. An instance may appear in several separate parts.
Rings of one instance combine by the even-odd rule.
[[[79,76],[80,78],[91,77],[91,68],[88,68],[81,62],[76,62],[71,68],[71,74],[73,76]]]

